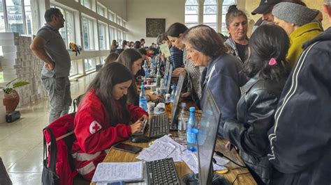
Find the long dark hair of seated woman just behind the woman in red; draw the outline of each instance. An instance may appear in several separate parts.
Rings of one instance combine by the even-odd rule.
[[[132,74],[132,65],[135,61],[142,58],[141,54],[135,49],[125,49],[117,58],[117,62],[122,63],[125,65],[130,73]],[[135,75],[135,74],[132,74]],[[138,104],[138,90],[137,86],[135,85],[135,79],[132,77],[132,83],[130,88],[128,88],[128,103],[130,104]]]

